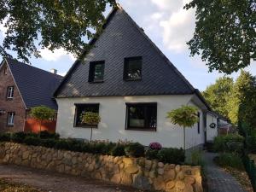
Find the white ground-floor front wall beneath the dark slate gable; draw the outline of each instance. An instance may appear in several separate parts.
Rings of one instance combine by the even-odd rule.
[[[172,125],[166,119],[166,113],[181,105],[189,103],[191,96],[112,96],[112,97],[84,97],[57,98],[59,106],[56,131],[61,137],[90,139],[90,128],[74,128],[74,103],[100,103],[99,113],[101,123],[93,130],[94,140],[110,140],[117,142],[128,140],[148,145],[159,142],[164,147],[183,147],[183,129]],[[157,102],[157,131],[125,130],[125,102]],[[201,119],[202,122],[202,119]],[[187,137],[191,145],[203,143],[203,128],[201,135],[197,134],[197,127],[189,129]]]

